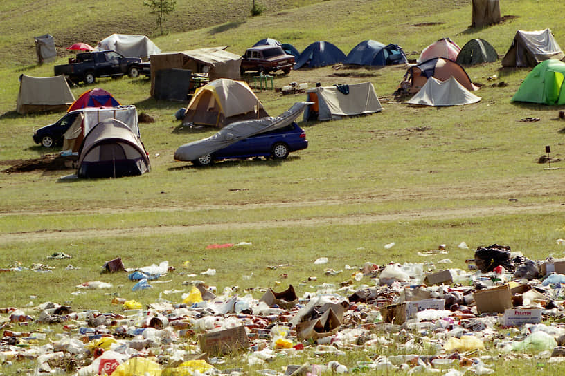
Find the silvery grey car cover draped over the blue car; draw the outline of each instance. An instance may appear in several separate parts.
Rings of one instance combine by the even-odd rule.
[[[175,160],[190,162],[201,156],[213,153],[244,138],[258,133],[273,131],[291,124],[304,111],[309,102],[296,102],[290,109],[276,118],[268,117],[258,120],[242,120],[224,126],[221,131],[208,138],[183,144],[174,152]]]

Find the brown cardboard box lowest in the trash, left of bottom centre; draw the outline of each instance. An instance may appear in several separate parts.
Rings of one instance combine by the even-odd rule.
[[[244,326],[219,330],[200,336],[200,350],[208,356],[235,353],[237,350],[249,348],[249,339]]]

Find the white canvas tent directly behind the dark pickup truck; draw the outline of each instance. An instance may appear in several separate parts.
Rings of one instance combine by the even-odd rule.
[[[145,35],[112,34],[98,42],[96,50],[116,50],[125,57],[148,59],[150,55],[161,53],[151,39]]]

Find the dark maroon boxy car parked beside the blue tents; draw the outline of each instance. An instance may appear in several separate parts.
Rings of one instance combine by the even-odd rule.
[[[280,46],[256,46],[247,48],[242,56],[241,73],[255,71],[269,73],[282,70],[290,73],[294,66],[294,56],[287,55]]]

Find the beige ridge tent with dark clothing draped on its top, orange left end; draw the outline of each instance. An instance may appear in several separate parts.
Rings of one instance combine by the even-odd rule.
[[[304,120],[332,120],[382,110],[373,84],[362,82],[346,86],[319,86],[308,90],[307,101],[311,104],[304,111]]]

